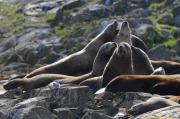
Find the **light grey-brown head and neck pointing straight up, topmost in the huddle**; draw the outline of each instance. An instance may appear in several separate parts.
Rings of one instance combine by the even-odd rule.
[[[131,29],[129,27],[129,23],[127,21],[122,22],[120,30],[115,37],[115,42],[116,43],[121,43],[121,42],[127,42],[130,45],[132,45],[131,42]]]

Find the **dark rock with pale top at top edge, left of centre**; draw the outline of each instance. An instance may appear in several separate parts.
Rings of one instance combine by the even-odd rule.
[[[70,0],[63,5],[63,10],[73,9],[80,7],[85,3],[84,0]]]

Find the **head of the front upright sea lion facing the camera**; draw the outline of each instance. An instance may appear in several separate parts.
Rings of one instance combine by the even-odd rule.
[[[131,58],[131,54],[132,54],[132,51],[131,51],[131,46],[126,43],[126,42],[121,42],[117,49],[116,49],[116,55],[118,58],[121,58],[121,59],[127,59],[127,58]]]

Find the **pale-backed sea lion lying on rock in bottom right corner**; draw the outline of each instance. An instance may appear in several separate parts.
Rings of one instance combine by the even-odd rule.
[[[162,97],[152,97],[145,102],[133,105],[128,110],[128,113],[133,116],[137,116],[156,109],[164,108],[167,106],[176,106],[176,105],[179,104],[169,99],[165,99]]]

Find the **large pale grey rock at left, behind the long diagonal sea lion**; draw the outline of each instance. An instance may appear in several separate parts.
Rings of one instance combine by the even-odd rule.
[[[0,62],[5,65],[13,62],[35,65],[43,59],[46,60],[45,63],[52,63],[62,58],[59,53],[61,50],[60,38],[52,36],[49,29],[27,29],[19,36],[12,36],[1,42]]]

